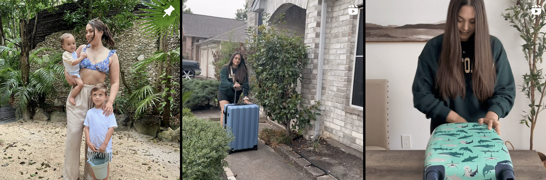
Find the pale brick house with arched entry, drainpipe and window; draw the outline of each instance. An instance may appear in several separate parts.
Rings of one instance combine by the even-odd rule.
[[[304,35],[310,65],[304,70],[304,80],[298,92],[304,104],[322,102],[319,127],[305,129],[304,137],[328,137],[351,147],[351,154],[363,157],[364,152],[364,1],[334,0],[247,0],[247,26],[257,27],[276,21],[275,16],[286,13],[281,28]],[[325,22],[321,22],[326,5]],[[349,15],[349,6],[357,5],[358,14]],[[269,19],[262,21],[263,14]],[[325,26],[325,27],[321,27]],[[321,28],[324,31],[324,50],[321,62]],[[322,73],[319,73],[322,72]],[[322,77],[319,75],[322,74]],[[318,81],[321,79],[321,81]],[[319,86],[321,85],[321,86]],[[318,87],[318,88],[317,88]],[[320,89],[320,94],[317,93]],[[318,128],[318,129],[316,129]],[[338,144],[339,144],[338,143]],[[349,148],[343,148],[349,149]],[[355,151],[354,151],[355,150]]]

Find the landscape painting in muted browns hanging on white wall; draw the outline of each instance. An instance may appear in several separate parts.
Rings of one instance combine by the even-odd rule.
[[[437,0],[366,1],[366,43],[429,41],[444,33],[448,6]]]

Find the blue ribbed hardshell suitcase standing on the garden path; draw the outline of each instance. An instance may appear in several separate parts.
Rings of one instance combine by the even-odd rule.
[[[258,117],[260,107],[256,104],[224,105],[224,125],[232,131],[235,139],[229,143],[229,153],[258,150]]]

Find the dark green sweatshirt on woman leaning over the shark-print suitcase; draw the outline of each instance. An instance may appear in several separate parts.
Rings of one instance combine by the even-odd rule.
[[[466,96],[460,95],[455,100],[445,101],[436,91],[436,72],[442,52],[444,34],[434,37],[426,43],[417,65],[413,80],[413,107],[431,118],[430,132],[441,124],[445,124],[450,111],[455,111],[468,122],[478,122],[488,111],[497,113],[499,118],[506,117],[512,110],[515,99],[515,82],[506,51],[500,40],[491,35],[491,50],[496,67],[497,82],[495,92],[488,100],[480,103],[472,91],[472,73],[464,73]],[[468,41],[461,41],[462,59],[474,61],[474,35]],[[461,67],[462,68],[462,67]]]

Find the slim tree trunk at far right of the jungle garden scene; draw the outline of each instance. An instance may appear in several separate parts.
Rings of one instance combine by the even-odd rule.
[[[167,42],[167,33],[164,33],[161,35],[161,44],[163,44],[162,46],[162,49],[163,49],[163,52],[169,52],[169,44]],[[167,80],[167,82],[165,82],[165,88],[169,89],[168,91],[170,91],[170,75],[171,75],[171,71],[173,71],[173,67],[171,66],[171,57],[170,56],[167,56],[167,59],[165,60],[165,80]],[[169,128],[170,127],[170,99],[171,98],[171,95],[170,93],[167,93],[167,95],[165,95],[165,106],[163,107],[163,122],[162,124],[164,124],[164,127],[165,128]]]

